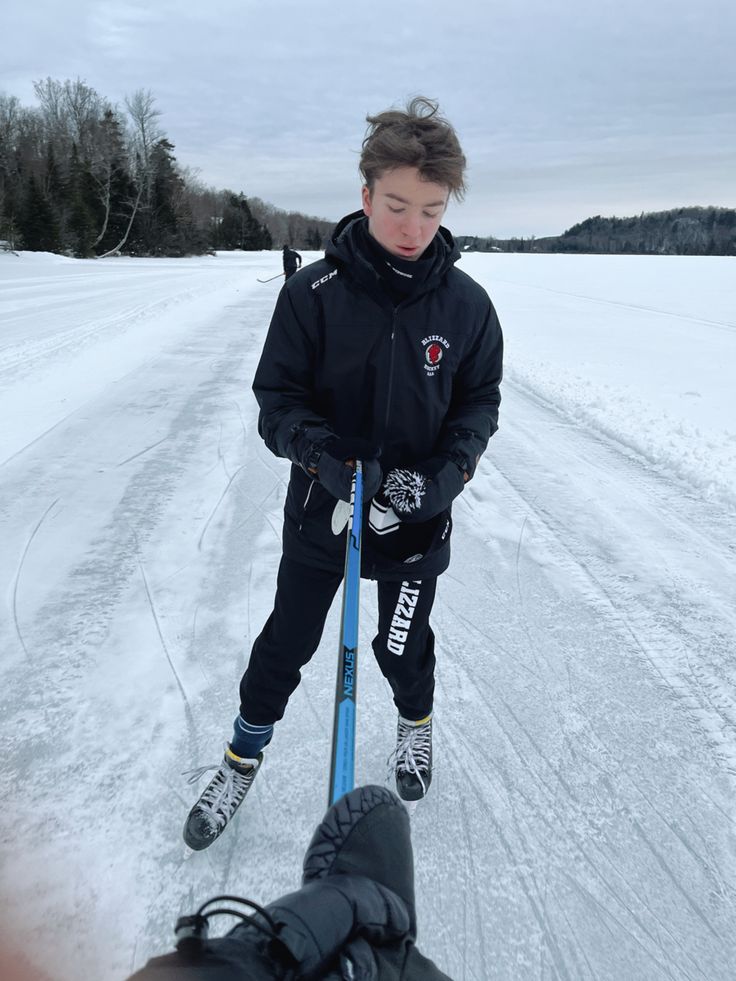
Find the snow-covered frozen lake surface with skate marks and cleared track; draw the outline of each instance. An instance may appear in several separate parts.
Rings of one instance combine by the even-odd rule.
[[[308,257],[305,257],[305,259]],[[250,391],[276,253],[0,254],[0,916],[120,979],[210,895],[294,889],[339,602],[233,827],[181,839],[270,612],[285,461]],[[419,943],[455,979],[736,976],[736,265],[468,254],[501,429],[435,607]],[[396,718],[361,599],[357,779]]]

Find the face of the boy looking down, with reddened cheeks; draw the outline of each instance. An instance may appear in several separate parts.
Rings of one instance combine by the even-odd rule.
[[[415,167],[387,170],[363,188],[368,230],[391,255],[418,259],[434,238],[447,207],[448,189],[422,180]]]

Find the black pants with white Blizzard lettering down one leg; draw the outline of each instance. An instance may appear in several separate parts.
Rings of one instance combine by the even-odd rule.
[[[273,613],[253,644],[240,682],[240,714],[251,725],[270,725],[283,717],[301,668],[319,646],[341,582],[341,572],[282,557]],[[432,711],[435,656],[429,614],[436,589],[436,578],[378,583],[373,652],[399,713],[413,722]]]

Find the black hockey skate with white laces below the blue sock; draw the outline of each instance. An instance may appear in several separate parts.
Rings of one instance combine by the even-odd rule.
[[[207,770],[217,769],[184,825],[184,841],[190,848],[201,851],[220,837],[245,800],[262,762],[263,753],[252,760],[243,759],[228,746],[219,767],[207,766],[194,771],[190,783]]]

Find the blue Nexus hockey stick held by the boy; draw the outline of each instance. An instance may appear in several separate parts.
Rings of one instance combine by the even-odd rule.
[[[340,650],[332,722],[332,757],[328,806],[355,782],[355,696],[358,682],[358,602],[360,599],[360,540],[363,525],[363,466],[355,462],[350,493],[350,519],[345,546]]]

